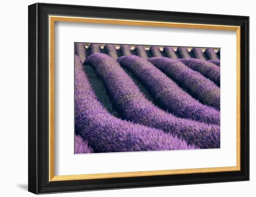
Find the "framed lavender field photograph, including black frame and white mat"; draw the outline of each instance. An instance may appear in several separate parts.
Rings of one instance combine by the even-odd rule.
[[[28,6],[28,191],[249,180],[249,17]]]

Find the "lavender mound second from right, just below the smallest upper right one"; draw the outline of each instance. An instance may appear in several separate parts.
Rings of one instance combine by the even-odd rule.
[[[220,110],[220,89],[211,80],[175,59],[151,57],[148,61],[170,76],[195,99]]]

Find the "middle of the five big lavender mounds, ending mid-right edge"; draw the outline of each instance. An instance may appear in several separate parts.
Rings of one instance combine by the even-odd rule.
[[[131,70],[169,112],[195,121],[220,124],[220,112],[195,100],[153,64],[138,56],[123,56],[118,62]]]

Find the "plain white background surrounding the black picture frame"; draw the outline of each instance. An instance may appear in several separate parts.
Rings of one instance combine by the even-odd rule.
[[[3,1],[0,7],[0,195],[32,196],[27,192],[27,6],[36,1]],[[216,13],[250,16],[250,181],[168,186],[112,191],[55,194],[88,197],[255,196],[256,185],[256,13],[250,0],[45,0],[47,3],[112,6],[194,13]],[[254,186],[254,187],[253,187]],[[54,195],[52,195],[54,196]]]

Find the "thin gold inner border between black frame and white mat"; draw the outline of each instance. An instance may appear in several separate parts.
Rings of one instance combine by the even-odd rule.
[[[141,26],[159,26],[159,27],[174,27],[188,29],[209,29],[209,30],[230,30],[236,31],[236,166],[230,167],[211,167],[211,168],[194,168],[194,169],[177,169],[177,170],[159,170],[159,171],[141,171],[141,172],[115,172],[115,173],[100,173],[100,174],[81,174],[81,175],[54,175],[54,24],[60,22],[79,22],[79,23],[98,23],[98,24],[116,24],[116,25],[141,25]],[[102,19],[102,18],[85,18],[71,16],[48,16],[48,68],[49,68],[49,182],[50,181],[71,181],[71,180],[86,180],[86,179],[101,179],[101,178],[128,178],[128,177],[145,177],[159,175],[176,175],[176,174],[191,174],[191,173],[209,173],[209,172],[232,172],[240,171],[240,120],[241,120],[241,61],[240,61],[240,26],[230,25],[208,25],[208,24],[192,24],[192,23],[173,23],[159,21],[144,21],[144,20],[128,20],[128,19]]]

